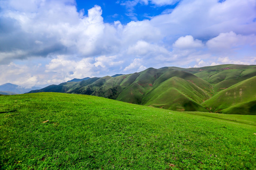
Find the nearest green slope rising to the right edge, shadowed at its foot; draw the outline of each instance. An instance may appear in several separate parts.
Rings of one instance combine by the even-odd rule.
[[[203,105],[214,112],[231,113],[232,110],[236,110],[235,112],[240,112],[240,114],[255,114],[255,111],[254,113],[249,111],[255,108],[255,85],[256,76],[239,82],[236,85],[232,85],[229,88],[217,93],[209,100],[204,102]],[[240,109],[238,109],[239,106]],[[243,108],[247,108],[247,110],[243,110]]]

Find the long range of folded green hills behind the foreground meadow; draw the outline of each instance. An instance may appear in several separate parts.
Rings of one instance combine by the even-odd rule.
[[[254,76],[256,76],[255,65],[148,68],[139,73],[114,77],[94,77],[81,82],[50,85],[31,92],[88,94],[123,102],[182,111],[206,111],[208,109],[208,111],[213,112],[233,113],[232,110],[239,107],[244,108],[242,109],[244,111],[243,113],[237,111],[237,114],[255,114],[251,112],[256,107],[255,98],[253,97],[256,95],[256,91],[252,90],[255,87],[254,84],[247,83],[245,83],[247,88],[243,89],[243,93],[251,95],[250,100],[246,97],[242,97],[241,100],[229,98],[229,104],[225,104],[225,107],[210,109],[216,108],[215,105],[219,104],[214,102],[217,97],[223,97],[221,99],[223,101],[228,99],[225,95],[221,95],[223,90],[240,82],[246,82],[247,79]],[[211,99],[213,96],[217,97]],[[208,100],[211,102],[207,102]],[[228,111],[229,109],[231,111]]]

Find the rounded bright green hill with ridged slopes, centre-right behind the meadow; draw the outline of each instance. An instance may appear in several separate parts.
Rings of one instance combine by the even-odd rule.
[[[175,76],[147,93],[143,103],[169,110],[205,111],[199,103],[209,98],[210,94],[197,85]]]

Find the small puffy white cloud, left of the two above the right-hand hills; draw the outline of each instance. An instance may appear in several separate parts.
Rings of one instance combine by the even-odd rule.
[[[176,40],[173,46],[174,48],[179,48],[179,49],[192,49],[192,48],[201,48],[203,47],[203,44],[200,40],[197,40],[197,39],[194,40],[194,38],[191,35],[186,35]]]

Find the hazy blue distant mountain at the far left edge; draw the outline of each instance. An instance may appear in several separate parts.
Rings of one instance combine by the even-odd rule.
[[[0,94],[22,94],[31,90],[40,89],[41,87],[24,88],[11,83],[0,85]]]

